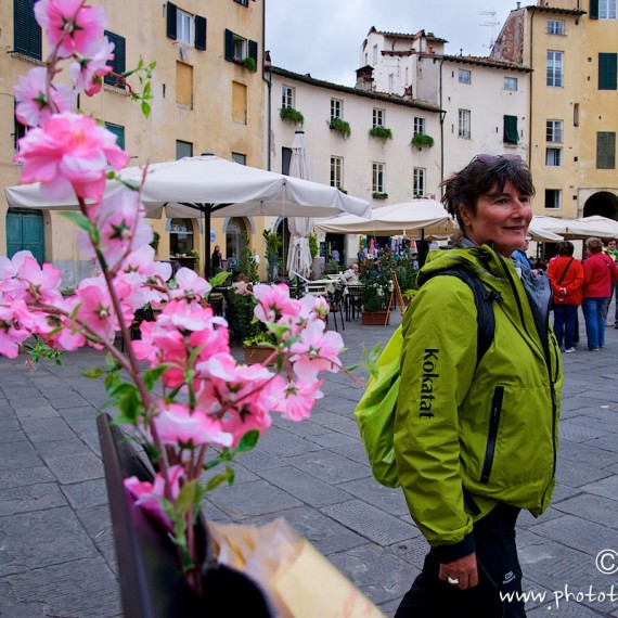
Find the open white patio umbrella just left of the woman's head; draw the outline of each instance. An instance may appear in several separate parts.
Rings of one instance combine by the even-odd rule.
[[[436,199],[414,199],[374,208],[370,219],[342,215],[316,223],[323,232],[339,234],[410,235],[421,232],[425,236],[447,236],[458,229],[456,223]]]

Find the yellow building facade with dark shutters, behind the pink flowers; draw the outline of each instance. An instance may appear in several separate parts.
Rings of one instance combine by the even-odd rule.
[[[265,81],[263,0],[95,0],[107,13],[106,35],[116,44],[114,70],[137,66],[140,57],[156,62],[151,87],[152,112],[146,119],[128,85],[106,79],[102,92],[79,98],[80,108],[105,121],[131,155],[129,165],[143,165],[211,153],[263,168]],[[24,128],[14,120],[13,85],[48,53],[44,35],[33,15],[34,0],[1,0],[0,11],[0,188],[17,184],[13,163],[16,137]],[[42,42],[41,42],[42,39]],[[199,219],[153,220],[158,232],[158,259],[194,249],[204,265]],[[211,245],[224,258],[237,258],[243,232],[262,252],[263,222],[250,218],[213,219]],[[31,248],[39,259],[53,262],[65,285],[88,275],[75,245],[75,228],[59,213],[9,209],[0,196],[0,254]]]

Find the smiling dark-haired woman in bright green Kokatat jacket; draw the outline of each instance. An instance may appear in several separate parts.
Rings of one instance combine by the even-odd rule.
[[[522,617],[515,523],[538,516],[555,484],[562,365],[549,326],[551,288],[511,260],[532,218],[529,169],[518,156],[477,155],[445,182],[463,231],[459,248],[429,254],[403,322],[395,423],[399,480],[430,544],[396,618]],[[493,301],[493,342],[477,364],[471,287]]]

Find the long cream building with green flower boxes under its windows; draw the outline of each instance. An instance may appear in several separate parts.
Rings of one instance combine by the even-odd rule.
[[[374,91],[365,68],[357,72],[357,88],[279,67],[272,67],[270,75],[271,169],[288,172],[295,132],[302,130],[311,180],[364,197],[374,208],[435,197],[440,182],[439,107]],[[299,112],[302,121],[291,119],[289,110]],[[349,134],[337,130],[337,120],[347,124]],[[411,145],[414,127],[421,123],[426,133],[436,136],[430,147]],[[381,138],[378,128],[387,129],[390,137]],[[329,234],[326,255],[336,249],[342,265],[351,262],[358,241],[358,235],[344,242],[344,236]]]

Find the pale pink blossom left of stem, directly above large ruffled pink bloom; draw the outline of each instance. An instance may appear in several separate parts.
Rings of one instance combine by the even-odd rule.
[[[47,94],[48,69],[44,66],[30,68],[27,77],[21,75],[13,87],[15,93],[15,116],[22,125],[43,127],[54,113],[72,112],[77,103],[77,92],[63,83],[51,87],[51,102]]]

